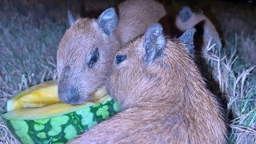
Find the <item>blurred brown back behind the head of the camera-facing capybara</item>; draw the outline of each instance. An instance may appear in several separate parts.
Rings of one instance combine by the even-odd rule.
[[[144,34],[153,22],[158,22],[166,15],[161,3],[154,0],[129,0],[119,6],[118,36],[122,44],[130,42]]]

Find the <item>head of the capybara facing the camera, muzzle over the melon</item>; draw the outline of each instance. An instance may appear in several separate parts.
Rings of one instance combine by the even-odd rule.
[[[57,52],[58,97],[72,105],[89,101],[109,72],[119,48],[114,31],[118,16],[114,8],[98,19],[79,18],[66,30]]]

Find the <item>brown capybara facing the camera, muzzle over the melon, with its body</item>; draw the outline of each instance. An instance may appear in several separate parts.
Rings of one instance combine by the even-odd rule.
[[[114,54],[123,44],[144,34],[166,10],[154,0],[130,0],[100,14],[79,18],[66,30],[57,52],[58,97],[78,105],[87,102],[106,81]]]

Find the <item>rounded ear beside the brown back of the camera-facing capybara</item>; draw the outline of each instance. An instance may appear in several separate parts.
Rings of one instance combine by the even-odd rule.
[[[118,26],[118,15],[113,7],[106,9],[98,17],[98,26],[106,35],[111,35]]]

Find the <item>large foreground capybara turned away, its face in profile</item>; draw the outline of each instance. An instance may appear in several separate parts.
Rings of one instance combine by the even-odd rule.
[[[194,31],[166,39],[154,24],[118,51],[106,86],[121,112],[71,143],[225,143],[218,103],[187,52]]]

